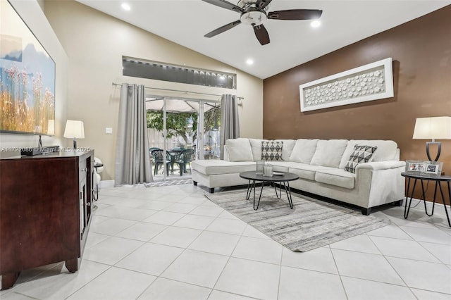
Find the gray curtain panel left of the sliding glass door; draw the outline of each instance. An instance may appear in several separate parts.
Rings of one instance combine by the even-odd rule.
[[[144,85],[121,86],[115,185],[152,182]]]

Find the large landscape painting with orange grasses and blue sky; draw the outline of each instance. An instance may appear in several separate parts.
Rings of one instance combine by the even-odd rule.
[[[55,63],[11,4],[0,6],[0,132],[52,135]]]

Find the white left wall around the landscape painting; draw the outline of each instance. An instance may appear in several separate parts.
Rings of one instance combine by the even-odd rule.
[[[63,146],[63,143],[66,142],[63,141],[62,136],[66,124],[68,56],[37,1],[10,0],[10,3],[55,61],[55,136],[42,136],[42,144],[44,146]],[[38,140],[39,137],[35,135],[0,133],[0,151],[37,146]]]

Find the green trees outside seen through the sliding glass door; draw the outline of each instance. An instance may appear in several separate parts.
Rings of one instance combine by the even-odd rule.
[[[204,132],[217,128],[220,125],[220,119],[221,108],[214,107],[206,111]],[[163,131],[163,111],[147,111],[147,128]],[[166,113],[166,130],[166,138],[182,137],[185,144],[192,144],[197,138],[197,113]],[[190,137],[192,141],[188,140]]]

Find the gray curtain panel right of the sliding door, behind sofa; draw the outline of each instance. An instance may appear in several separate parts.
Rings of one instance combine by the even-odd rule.
[[[234,95],[225,94],[221,98],[221,159],[224,158],[226,140],[237,137],[240,137],[237,99]]]

